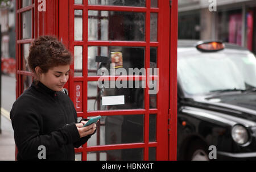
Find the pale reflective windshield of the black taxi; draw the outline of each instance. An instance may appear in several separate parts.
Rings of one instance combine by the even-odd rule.
[[[177,74],[189,95],[251,89],[256,87],[256,58],[248,51],[230,49],[214,53],[178,50]]]

